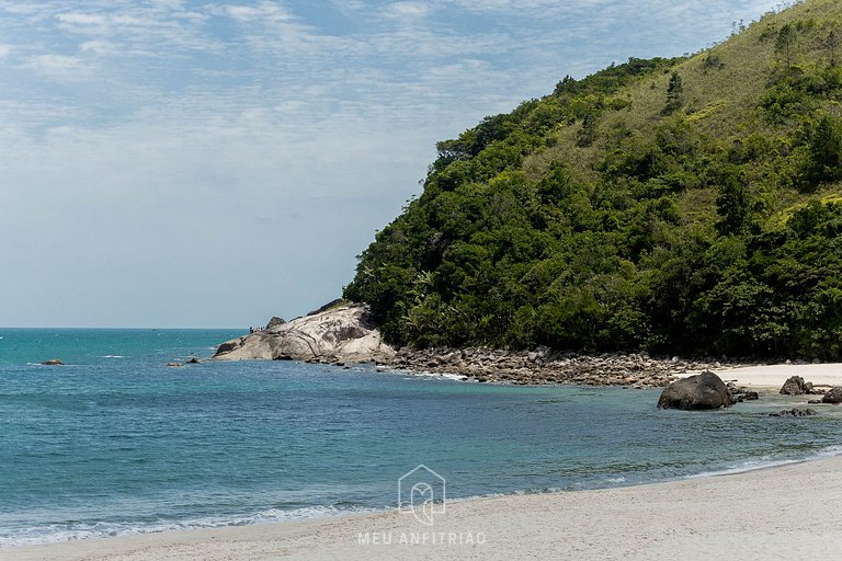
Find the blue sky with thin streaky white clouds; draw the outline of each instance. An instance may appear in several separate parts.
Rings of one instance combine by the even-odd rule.
[[[435,142],[767,0],[0,0],[0,325],[241,328],[341,294]]]

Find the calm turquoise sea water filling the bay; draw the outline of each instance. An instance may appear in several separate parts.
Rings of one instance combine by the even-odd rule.
[[[792,398],[659,411],[657,390],[504,387],[288,362],[170,360],[239,333],[0,329],[0,546],[628,485],[835,454]],[[61,367],[41,366],[58,357]],[[803,400],[801,400],[803,402]]]

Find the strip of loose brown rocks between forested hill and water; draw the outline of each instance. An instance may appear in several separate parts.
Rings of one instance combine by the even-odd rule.
[[[481,382],[580,383],[656,388],[686,373],[721,367],[716,362],[653,358],[647,354],[581,355],[479,348],[400,348],[387,366],[401,370],[462,375]]]

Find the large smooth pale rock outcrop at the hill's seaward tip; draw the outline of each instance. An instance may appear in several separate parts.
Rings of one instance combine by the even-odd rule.
[[[386,360],[395,351],[380,339],[367,307],[346,305],[226,341],[217,360]]]

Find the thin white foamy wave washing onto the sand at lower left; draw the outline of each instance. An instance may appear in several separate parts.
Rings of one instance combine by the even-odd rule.
[[[8,530],[0,534],[0,548],[36,546],[42,543],[61,543],[82,539],[101,539],[116,536],[136,536],[163,531],[187,529],[218,529],[234,526],[251,526],[281,522],[305,520],[311,518],[333,518],[357,513],[376,512],[374,508],[356,506],[307,506],[285,511],[270,508],[254,514],[240,516],[207,516],[182,520],[159,519],[153,522],[98,522],[49,524]]]

